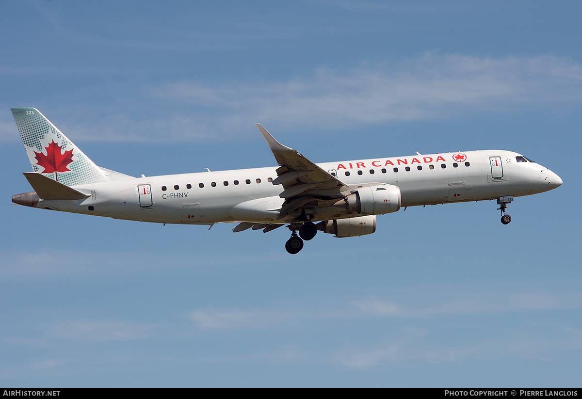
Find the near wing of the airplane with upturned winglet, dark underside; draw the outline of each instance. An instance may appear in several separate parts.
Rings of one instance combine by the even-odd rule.
[[[281,184],[283,191],[279,197],[285,198],[278,219],[297,213],[306,204],[319,201],[337,200],[343,197],[340,191],[348,185],[321,169],[299,152],[276,141],[260,123],[258,130],[271,148],[280,165],[273,184]]]

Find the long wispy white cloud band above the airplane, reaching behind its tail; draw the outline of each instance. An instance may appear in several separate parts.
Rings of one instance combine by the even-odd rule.
[[[73,141],[191,143],[232,140],[253,130],[256,122],[341,134],[370,124],[579,105],[582,66],[553,55],[493,58],[427,52],[351,69],[320,67],[282,80],[179,80],[98,90],[107,95],[115,91],[113,97],[123,106],[97,111],[68,105],[58,127]],[[83,104],[82,98],[77,101]],[[14,131],[8,120],[0,123],[3,131]]]

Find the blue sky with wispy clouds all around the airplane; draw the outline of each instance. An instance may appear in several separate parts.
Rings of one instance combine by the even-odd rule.
[[[3,386],[580,386],[579,2],[0,2]],[[371,236],[12,205],[10,108],[105,168],[517,151],[562,187]]]

